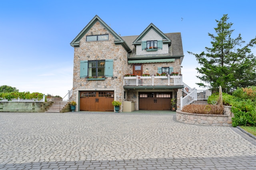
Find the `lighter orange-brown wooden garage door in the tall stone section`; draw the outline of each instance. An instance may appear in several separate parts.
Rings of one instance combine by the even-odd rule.
[[[114,111],[114,91],[81,91],[80,111]]]

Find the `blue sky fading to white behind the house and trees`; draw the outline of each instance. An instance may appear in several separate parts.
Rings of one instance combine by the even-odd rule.
[[[0,85],[64,97],[73,81],[70,42],[98,15],[121,36],[140,35],[150,23],[163,33],[181,32],[183,81],[200,89],[198,63],[187,51],[211,47],[208,33],[223,14],[233,23],[232,38],[241,33],[248,43],[256,36],[255,6],[255,0],[2,0]]]

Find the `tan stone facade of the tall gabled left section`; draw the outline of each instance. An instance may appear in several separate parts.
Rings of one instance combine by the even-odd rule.
[[[104,34],[109,35],[109,40],[86,42],[86,36]],[[114,91],[114,100],[122,101],[123,103],[123,76],[129,72],[128,67],[125,67],[128,63],[128,53],[124,47],[122,47],[122,45],[116,45],[114,40],[114,36],[108,32],[108,30],[106,30],[104,26],[100,24],[100,22],[96,22],[94,26],[92,26],[92,28],[80,40],[80,46],[74,47],[73,96],[76,97],[76,103],[78,103],[79,91],[91,90]],[[114,60],[113,77],[106,77],[105,80],[94,81],[89,81],[86,78],[80,78],[80,61],[104,59]],[[79,109],[78,106],[76,107],[76,111]],[[120,107],[120,112],[121,111],[122,106]]]

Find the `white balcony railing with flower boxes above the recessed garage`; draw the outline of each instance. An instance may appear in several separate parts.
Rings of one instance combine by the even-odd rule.
[[[182,75],[124,77],[124,85],[183,85]]]

